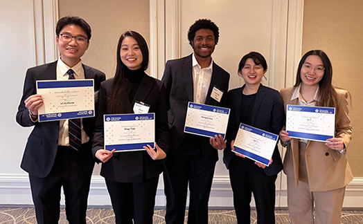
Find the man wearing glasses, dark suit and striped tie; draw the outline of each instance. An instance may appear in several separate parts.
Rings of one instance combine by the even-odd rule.
[[[94,118],[38,122],[38,109],[43,99],[36,93],[35,84],[36,80],[94,79],[97,97],[105,74],[80,60],[91,39],[91,27],[84,19],[63,17],[57,22],[55,32],[60,58],[26,72],[17,122],[22,127],[34,126],[34,129],[28,138],[21,168],[29,174],[37,223],[58,223],[61,187],[69,223],[86,223],[87,198],[94,169],[91,155]],[[71,131],[78,131],[79,138]]]

